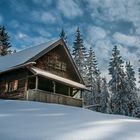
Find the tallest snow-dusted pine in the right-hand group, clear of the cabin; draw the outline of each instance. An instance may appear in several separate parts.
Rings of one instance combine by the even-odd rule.
[[[128,112],[127,104],[124,102],[126,97],[126,79],[123,70],[123,60],[120,56],[120,51],[117,49],[117,46],[114,46],[112,50],[109,74],[111,75],[109,87],[112,92],[110,100],[111,113],[125,114],[126,112]]]

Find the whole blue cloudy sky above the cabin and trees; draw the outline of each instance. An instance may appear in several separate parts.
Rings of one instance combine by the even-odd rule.
[[[104,75],[114,44],[138,75],[140,0],[0,0],[0,25],[17,50],[59,37],[62,27],[71,47],[79,26]]]

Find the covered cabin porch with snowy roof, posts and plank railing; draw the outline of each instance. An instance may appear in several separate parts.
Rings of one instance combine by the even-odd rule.
[[[34,75],[28,79],[27,100],[82,107],[85,85],[35,67],[31,71]]]

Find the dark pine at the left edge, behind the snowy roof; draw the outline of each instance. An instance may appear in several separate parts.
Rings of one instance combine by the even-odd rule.
[[[4,26],[0,26],[0,55],[4,56],[10,53],[11,51],[9,48],[11,47],[11,44],[9,42],[9,36],[6,32],[6,29]]]

